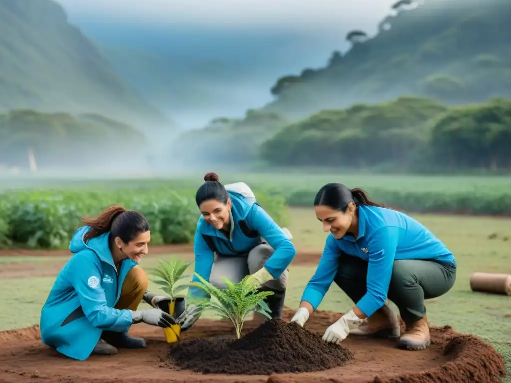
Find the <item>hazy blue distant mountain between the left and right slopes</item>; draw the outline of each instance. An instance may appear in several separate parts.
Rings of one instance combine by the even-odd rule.
[[[343,44],[337,36],[318,41],[296,32],[80,18],[76,23],[133,89],[182,128],[200,127],[217,115],[242,116],[247,107],[264,105],[281,73],[308,62],[322,66],[332,46]]]

